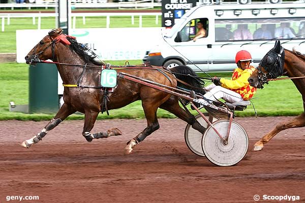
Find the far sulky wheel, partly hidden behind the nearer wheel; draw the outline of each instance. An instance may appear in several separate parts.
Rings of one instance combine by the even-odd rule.
[[[209,119],[208,113],[204,113],[204,116]],[[200,116],[200,114],[196,115],[195,118],[197,121],[203,126],[207,127],[207,123],[205,120]],[[212,122],[217,121],[217,118],[213,118]],[[201,147],[201,140],[202,140],[202,134],[198,131],[192,128],[190,124],[187,125],[185,129],[185,141],[188,146],[188,148],[196,155],[198,156],[204,156],[204,153],[202,151]]]

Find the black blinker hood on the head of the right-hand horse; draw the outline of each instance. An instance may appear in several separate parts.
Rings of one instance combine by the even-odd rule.
[[[269,60],[272,61],[269,61]],[[259,65],[257,66],[258,70],[258,81],[261,85],[267,83],[270,79],[276,79],[279,76],[283,75],[284,72],[284,59],[285,59],[285,52],[284,48],[281,47],[280,53],[275,52],[271,49],[261,60]],[[261,71],[261,67],[264,67],[267,73],[263,73]]]

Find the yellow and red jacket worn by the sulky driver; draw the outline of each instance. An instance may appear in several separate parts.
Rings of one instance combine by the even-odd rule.
[[[248,69],[242,70],[237,67],[232,74],[232,79],[220,79],[221,86],[240,94],[243,100],[249,100],[256,93],[256,88],[250,86],[248,78],[254,72],[255,67],[250,65]]]

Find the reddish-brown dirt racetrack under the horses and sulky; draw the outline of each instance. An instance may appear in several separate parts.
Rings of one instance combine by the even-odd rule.
[[[83,121],[64,121],[29,149],[18,144],[47,123],[0,121],[0,202],[305,202],[305,128],[279,133],[263,151],[253,144],[289,117],[236,118],[248,132],[249,151],[235,166],[220,167],[185,144],[186,124],[159,119],[161,128],[124,155],[126,142],[146,120],[97,121],[92,132],[118,127],[123,136],[87,143]],[[7,196],[39,196],[10,200]],[[272,197],[270,197],[272,198]],[[297,198],[297,197],[295,197]]]

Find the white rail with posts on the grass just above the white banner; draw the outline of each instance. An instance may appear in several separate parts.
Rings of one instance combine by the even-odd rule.
[[[83,24],[86,24],[85,17],[98,17],[106,16],[106,28],[109,28],[110,25],[110,16],[130,16],[131,24],[134,24],[134,17],[139,16],[139,27],[142,27],[142,16],[156,16],[156,24],[159,23],[159,16],[162,13],[72,13],[72,27],[76,28],[76,17],[82,17]],[[7,25],[10,25],[11,18],[33,18],[33,25],[36,24],[36,18],[38,18],[37,29],[41,27],[41,18],[42,17],[57,17],[56,13],[2,13],[0,18],[2,19],[1,31],[5,31],[5,19],[7,19]],[[71,22],[71,20],[70,20]]]

